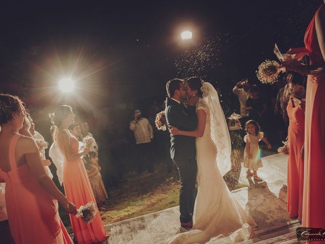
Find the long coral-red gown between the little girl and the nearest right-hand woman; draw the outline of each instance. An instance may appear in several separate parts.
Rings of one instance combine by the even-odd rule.
[[[293,107],[291,101],[286,110],[289,117],[287,209],[289,217],[298,217],[301,220],[304,189],[304,160],[301,158],[301,148],[305,140],[305,114],[300,107]]]

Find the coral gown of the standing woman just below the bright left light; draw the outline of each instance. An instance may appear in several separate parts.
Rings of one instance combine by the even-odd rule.
[[[71,154],[77,154],[79,142],[69,131],[66,132],[70,137],[70,152]],[[61,153],[64,155],[63,146],[58,138],[57,142]],[[77,208],[90,201],[96,203],[82,159],[79,158],[74,161],[68,161],[65,156],[63,158],[62,176],[66,197],[69,201],[73,202]],[[90,224],[85,224],[81,219],[72,215],[70,215],[70,221],[78,244],[100,242],[109,236],[106,234],[99,211]]]

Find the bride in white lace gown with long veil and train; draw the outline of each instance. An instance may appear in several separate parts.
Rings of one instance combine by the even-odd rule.
[[[231,141],[218,94],[199,77],[189,78],[186,89],[188,97],[200,98],[196,104],[198,129],[180,131],[171,127],[171,133],[196,137],[198,195],[193,228],[169,238],[167,243],[234,243],[248,239],[256,224],[222,177],[231,166]]]

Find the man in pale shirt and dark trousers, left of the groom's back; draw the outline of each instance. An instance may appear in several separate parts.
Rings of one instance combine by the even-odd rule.
[[[153,161],[151,155],[151,140],[153,139],[153,130],[149,120],[143,118],[140,110],[134,111],[134,119],[130,123],[130,130],[134,132],[136,147],[139,154],[138,173],[143,172],[144,165],[148,166],[148,172],[154,173]]]

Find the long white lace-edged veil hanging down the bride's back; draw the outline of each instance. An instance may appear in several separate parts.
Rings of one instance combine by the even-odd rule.
[[[209,82],[204,82],[201,88],[203,99],[210,110],[211,138],[217,147],[217,164],[221,175],[231,169],[230,155],[232,151],[228,126],[220,105],[218,93]]]

